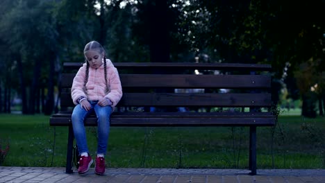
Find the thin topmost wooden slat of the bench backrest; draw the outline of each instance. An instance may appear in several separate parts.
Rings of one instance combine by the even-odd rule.
[[[240,63],[193,63],[193,62],[114,62],[117,69],[203,69],[203,70],[239,70],[239,71],[270,71],[269,64],[240,64]],[[68,69],[78,69],[83,63],[65,62]]]

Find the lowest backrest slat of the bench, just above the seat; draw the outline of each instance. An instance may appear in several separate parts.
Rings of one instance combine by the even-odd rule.
[[[69,93],[61,94],[60,103],[74,106]],[[124,93],[118,106],[267,107],[271,103],[270,94]]]

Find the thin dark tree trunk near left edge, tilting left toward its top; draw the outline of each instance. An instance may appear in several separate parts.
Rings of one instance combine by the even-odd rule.
[[[26,100],[26,85],[25,85],[25,80],[24,80],[22,58],[20,57],[20,55],[17,55],[17,67],[18,67],[20,90],[21,90],[21,94],[22,94],[22,96],[21,96],[22,97],[22,114],[27,114],[28,108],[27,108],[27,100]]]

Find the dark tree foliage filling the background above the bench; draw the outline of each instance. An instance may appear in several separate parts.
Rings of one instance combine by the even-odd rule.
[[[44,87],[53,105],[60,65],[83,62],[90,40],[101,42],[113,62],[268,63],[289,96],[315,84],[324,96],[324,8],[324,0],[4,0],[0,64],[8,69],[0,73],[0,98],[12,88],[38,105],[40,95],[31,96]],[[301,80],[301,64],[313,70],[312,79]]]

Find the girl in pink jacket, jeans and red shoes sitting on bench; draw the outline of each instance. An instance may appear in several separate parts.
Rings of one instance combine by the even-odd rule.
[[[76,107],[72,112],[72,127],[80,155],[78,173],[86,173],[92,165],[88,152],[83,121],[88,114],[97,115],[97,157],[95,173],[105,173],[106,148],[110,132],[110,114],[122,97],[119,73],[99,42],[92,41],[83,50],[85,64],[78,70],[72,82],[72,100]]]

